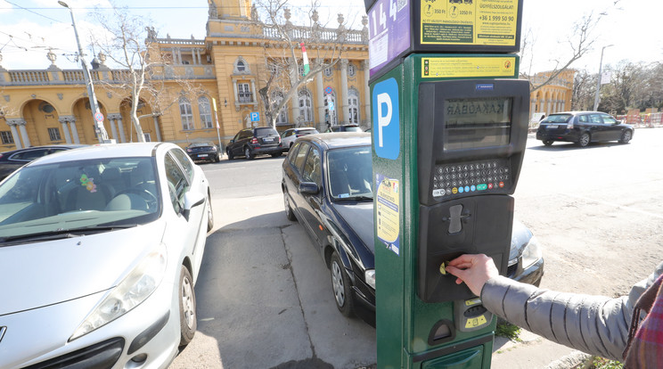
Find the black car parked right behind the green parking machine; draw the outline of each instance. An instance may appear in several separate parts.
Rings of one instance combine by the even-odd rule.
[[[331,270],[341,314],[375,322],[371,135],[299,138],[282,164],[285,215],[299,220]],[[536,237],[514,221],[507,276],[538,285],[544,259]]]

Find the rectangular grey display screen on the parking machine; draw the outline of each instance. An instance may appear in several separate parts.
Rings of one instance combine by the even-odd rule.
[[[512,97],[446,99],[444,117],[445,151],[507,145]]]

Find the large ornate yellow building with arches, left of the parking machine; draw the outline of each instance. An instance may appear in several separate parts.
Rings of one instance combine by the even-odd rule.
[[[325,130],[328,122],[368,127],[367,19],[362,21],[364,29],[351,30],[345,29],[341,15],[336,29],[319,26],[315,13],[313,28],[292,25],[287,11],[284,18],[285,24],[279,27],[293,40],[299,42],[300,37],[309,42],[307,53],[312,69],[320,63],[337,62],[297,89],[278,115],[277,129],[306,126]],[[257,20],[250,0],[209,0],[205,39],[160,38],[149,32],[152,47],[168,60],[154,78],[173,91],[182,81],[195,88],[169,93],[169,102],[141,95],[139,116],[160,113],[140,120],[145,140],[181,146],[195,141],[217,142],[214,101],[218,135],[224,146],[241,128],[268,125],[258,92],[266,87],[275,61],[284,60],[290,51],[275,25]],[[339,37],[342,42],[336,45],[340,47],[333,49],[330,45]],[[316,41],[311,43],[312,39]],[[98,143],[83,70],[61,70],[54,53],[47,57],[51,66],[45,70],[6,70],[0,55],[0,108],[4,112],[0,115],[0,152],[53,143]],[[296,57],[301,63],[299,49]],[[113,88],[126,77],[126,71],[107,67],[102,53],[92,65],[94,90],[109,138],[117,143],[137,141],[129,118],[128,94]],[[272,102],[279,102],[287,92],[272,88]],[[329,102],[333,103],[334,113],[327,109]],[[260,120],[251,121],[251,112],[258,112]]]

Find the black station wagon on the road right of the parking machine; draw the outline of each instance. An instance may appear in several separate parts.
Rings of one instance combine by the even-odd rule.
[[[634,127],[619,122],[601,111],[568,111],[551,114],[541,121],[536,139],[550,146],[555,141],[577,143],[585,147],[589,143],[618,141],[629,143]]]

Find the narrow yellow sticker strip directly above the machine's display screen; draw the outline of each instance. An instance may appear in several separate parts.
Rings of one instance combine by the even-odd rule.
[[[422,78],[515,77],[516,58],[422,58]]]

